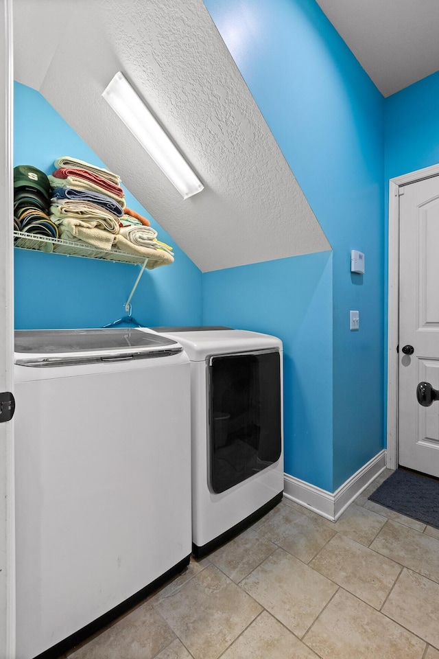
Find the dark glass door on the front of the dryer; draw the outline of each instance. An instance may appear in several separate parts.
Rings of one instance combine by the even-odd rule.
[[[219,494],[281,456],[281,356],[212,357],[209,384],[209,485]]]

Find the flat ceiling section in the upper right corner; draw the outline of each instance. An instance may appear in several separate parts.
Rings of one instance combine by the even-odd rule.
[[[439,70],[438,0],[316,0],[387,97]]]

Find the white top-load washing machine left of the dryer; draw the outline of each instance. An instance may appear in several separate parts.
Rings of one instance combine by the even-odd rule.
[[[30,659],[189,562],[190,373],[175,340],[139,329],[15,342],[16,657]]]

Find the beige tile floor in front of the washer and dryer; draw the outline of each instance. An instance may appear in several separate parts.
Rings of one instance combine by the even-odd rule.
[[[284,498],[62,659],[439,659],[439,531]]]

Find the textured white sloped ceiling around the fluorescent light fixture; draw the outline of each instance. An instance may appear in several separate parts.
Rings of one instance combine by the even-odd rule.
[[[14,44],[14,78],[202,271],[331,248],[202,0],[14,0]],[[102,99],[117,71],[198,173],[200,194],[182,200]]]

